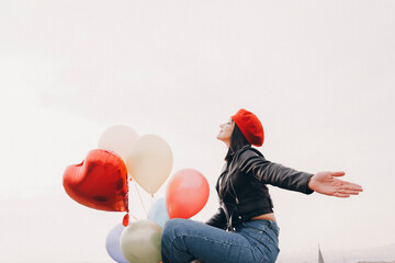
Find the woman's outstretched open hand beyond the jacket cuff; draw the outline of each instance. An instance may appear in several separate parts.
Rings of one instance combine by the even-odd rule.
[[[361,185],[337,179],[345,174],[345,172],[318,172],[308,181],[308,187],[317,193],[337,197],[350,197],[363,191]]]

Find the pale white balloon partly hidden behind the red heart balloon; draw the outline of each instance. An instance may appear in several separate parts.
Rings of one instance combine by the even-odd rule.
[[[111,150],[119,155],[126,162],[138,134],[125,125],[114,125],[105,129],[99,139],[99,149]]]

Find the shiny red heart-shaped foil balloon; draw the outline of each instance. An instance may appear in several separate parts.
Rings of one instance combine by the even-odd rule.
[[[106,211],[128,211],[126,165],[112,151],[91,150],[80,164],[67,167],[63,185],[81,205]]]

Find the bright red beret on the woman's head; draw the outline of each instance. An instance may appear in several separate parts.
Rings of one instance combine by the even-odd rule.
[[[232,116],[232,119],[240,128],[248,142],[262,146],[264,140],[263,127],[259,118],[251,112],[240,108]]]

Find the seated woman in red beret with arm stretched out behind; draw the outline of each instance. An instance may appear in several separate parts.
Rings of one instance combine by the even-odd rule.
[[[275,262],[279,227],[266,184],[337,197],[358,195],[362,187],[337,179],[343,172],[298,172],[270,162],[251,147],[263,144],[258,117],[244,108],[222,124],[217,139],[228,147],[216,190],[218,211],[206,222],[168,220],[161,239],[163,263]]]

